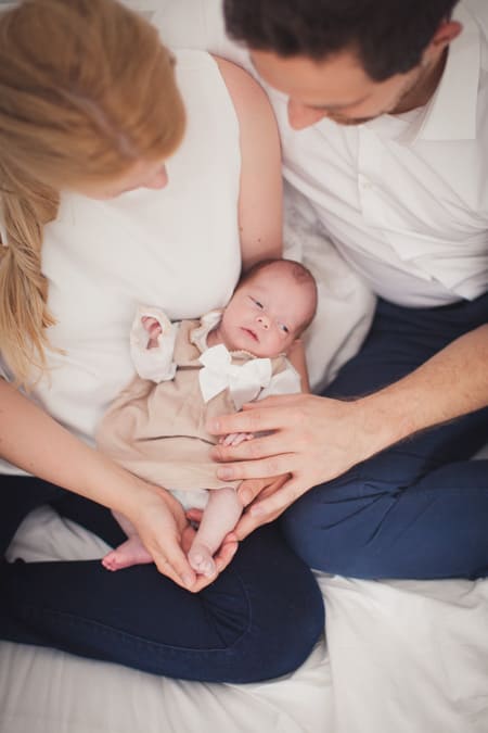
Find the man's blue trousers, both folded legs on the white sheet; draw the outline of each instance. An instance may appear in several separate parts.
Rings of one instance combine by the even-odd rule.
[[[437,308],[380,301],[363,347],[324,394],[350,399],[386,387],[487,321],[488,295]],[[488,462],[468,458],[487,441],[488,409],[419,433],[310,490],[283,516],[285,536],[326,572],[484,577]]]

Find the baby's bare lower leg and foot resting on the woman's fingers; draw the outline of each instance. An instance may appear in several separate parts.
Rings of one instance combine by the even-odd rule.
[[[208,492],[198,531],[190,547],[188,559],[192,568],[208,578],[215,573],[214,554],[236,525],[242,504],[235,489],[213,489]]]

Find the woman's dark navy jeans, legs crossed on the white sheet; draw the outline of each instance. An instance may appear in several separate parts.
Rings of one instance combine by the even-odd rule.
[[[111,513],[38,479],[1,477],[3,547],[26,510],[49,502],[110,544]],[[98,560],[3,563],[0,637],[52,646],[187,680],[251,682],[285,674],[323,631],[312,573],[266,527],[207,589],[189,593],[155,566],[107,572]]]

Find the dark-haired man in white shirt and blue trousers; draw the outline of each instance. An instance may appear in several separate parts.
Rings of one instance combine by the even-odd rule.
[[[244,484],[258,498],[237,538],[290,507],[291,544],[329,572],[487,574],[488,462],[468,458],[488,440],[488,10],[454,5],[224,1],[270,89],[285,177],[378,295],[323,395],[210,426],[262,432],[215,448],[220,478],[288,475]]]

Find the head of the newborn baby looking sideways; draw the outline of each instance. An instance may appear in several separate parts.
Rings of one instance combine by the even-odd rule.
[[[309,313],[307,288],[282,268],[265,267],[235,291],[220,336],[230,351],[278,356],[290,349]]]

